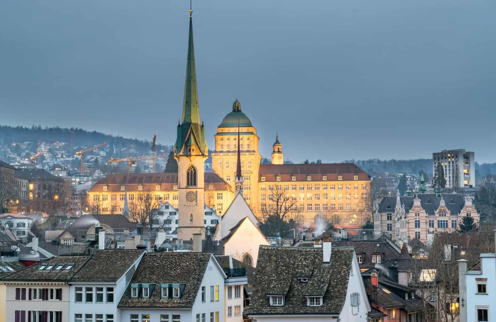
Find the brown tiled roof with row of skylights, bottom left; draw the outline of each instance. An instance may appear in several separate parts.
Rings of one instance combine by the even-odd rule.
[[[88,261],[89,256],[59,256],[48,258],[24,269],[21,269],[1,280],[8,281],[69,281],[74,274]],[[74,264],[65,269],[67,264]],[[38,270],[41,265],[54,264],[51,270]],[[64,264],[61,270],[55,270],[58,264]]]

